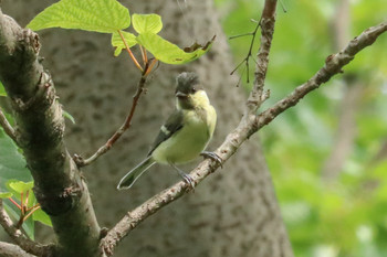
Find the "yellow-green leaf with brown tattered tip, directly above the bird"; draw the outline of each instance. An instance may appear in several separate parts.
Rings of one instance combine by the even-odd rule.
[[[155,58],[168,64],[184,64],[197,60],[210,50],[213,40],[215,36],[203,46],[195,43],[181,50],[157,34],[145,33],[137,36],[137,42],[149,51]]]

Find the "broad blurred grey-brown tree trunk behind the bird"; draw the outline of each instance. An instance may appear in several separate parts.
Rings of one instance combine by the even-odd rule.
[[[205,43],[215,34],[217,40],[208,54],[191,64],[160,64],[148,79],[147,94],[140,99],[132,128],[108,153],[84,169],[100,225],[106,227],[179,180],[170,168],[155,165],[133,189],[116,191],[119,178],[144,159],[172,110],[178,73],[198,73],[218,110],[218,126],[208,150],[219,146],[238,124],[247,98],[243,89],[236,87],[237,78],[229,76],[234,66],[211,0],[180,4],[166,0],[122,2],[130,13],[160,14],[161,35],[180,46],[195,41]],[[2,10],[24,25],[51,3],[13,0],[2,3]],[[125,53],[113,57],[109,36],[105,34],[50,29],[40,36],[44,66],[53,76],[64,109],[76,120],[76,125],[67,122],[69,149],[88,157],[124,121],[139,73]],[[195,163],[198,161],[181,168],[189,171]],[[293,256],[257,137],[195,193],[161,210],[129,234],[116,256]]]

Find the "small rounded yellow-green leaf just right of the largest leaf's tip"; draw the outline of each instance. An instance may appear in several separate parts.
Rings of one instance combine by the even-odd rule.
[[[154,33],[157,34],[163,29],[161,17],[157,14],[133,14],[133,28],[138,34]]]

